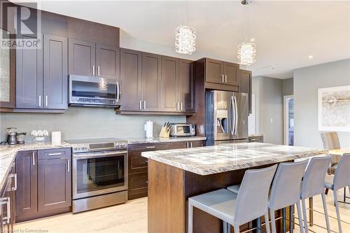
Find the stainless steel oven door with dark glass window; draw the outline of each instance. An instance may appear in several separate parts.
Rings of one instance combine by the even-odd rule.
[[[73,199],[127,190],[127,152],[73,154]]]

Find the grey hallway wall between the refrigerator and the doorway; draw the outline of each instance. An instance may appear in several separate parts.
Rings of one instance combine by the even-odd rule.
[[[256,133],[264,134],[266,143],[283,144],[282,80],[253,77],[252,92],[255,94]]]

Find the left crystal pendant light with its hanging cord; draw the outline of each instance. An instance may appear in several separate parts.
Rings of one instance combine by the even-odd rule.
[[[196,40],[196,30],[194,27],[188,26],[188,1],[187,3],[187,13],[186,13],[186,24],[179,25],[175,30],[175,50],[176,52],[182,54],[191,55],[195,52],[195,40]]]

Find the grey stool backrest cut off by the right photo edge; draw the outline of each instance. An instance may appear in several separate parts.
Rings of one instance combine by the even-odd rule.
[[[335,169],[333,185],[334,190],[350,186],[350,154],[342,155],[337,169]]]

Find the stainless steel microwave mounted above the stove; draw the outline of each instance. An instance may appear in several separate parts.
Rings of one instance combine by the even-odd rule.
[[[69,75],[69,105],[120,106],[120,85],[113,79]]]

